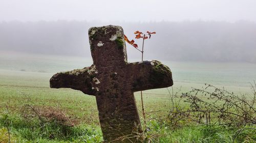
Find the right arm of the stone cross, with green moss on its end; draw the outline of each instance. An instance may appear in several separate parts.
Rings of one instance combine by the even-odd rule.
[[[172,86],[173,77],[169,67],[159,61],[143,61],[131,63],[133,71],[132,89],[134,92],[167,88]]]

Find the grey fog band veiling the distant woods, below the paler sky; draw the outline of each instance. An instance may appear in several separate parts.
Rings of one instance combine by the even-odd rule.
[[[121,25],[134,39],[135,31],[155,31],[145,41],[145,60],[256,63],[256,23],[238,22],[0,22],[0,51],[91,57],[88,29]],[[141,48],[142,41],[135,40]],[[126,43],[129,58],[140,53]]]

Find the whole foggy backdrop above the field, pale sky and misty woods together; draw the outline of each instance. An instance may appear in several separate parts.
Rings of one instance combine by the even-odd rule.
[[[91,57],[88,29],[155,31],[145,60],[256,63],[256,1],[1,0],[0,52]],[[136,41],[141,47],[141,41]],[[140,53],[127,45],[128,57]],[[138,58],[139,59],[139,58]]]

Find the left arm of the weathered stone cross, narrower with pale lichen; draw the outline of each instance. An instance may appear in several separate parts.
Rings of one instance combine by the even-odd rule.
[[[97,89],[93,88],[93,85],[97,79],[96,74],[95,66],[59,72],[50,79],[50,88],[71,88],[84,94],[95,95]]]

